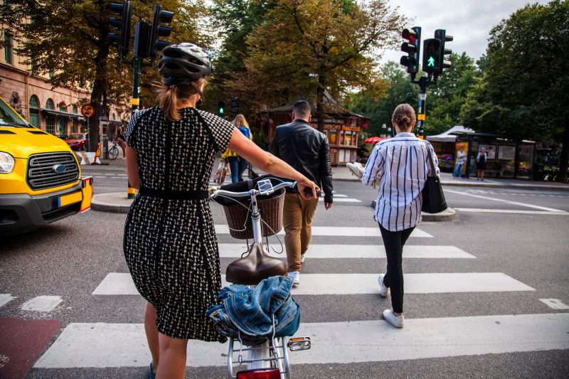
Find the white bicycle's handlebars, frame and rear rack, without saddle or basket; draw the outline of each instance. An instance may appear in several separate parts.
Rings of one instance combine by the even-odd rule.
[[[275,178],[276,179],[276,178]],[[282,182],[276,186],[272,186],[269,179],[262,179],[257,181],[256,188],[252,188],[249,191],[243,192],[233,192],[225,191],[215,188],[211,191],[211,198],[215,199],[220,196],[230,198],[231,200],[238,202],[235,199],[242,199],[250,197],[250,206],[248,207],[248,213],[250,213],[251,224],[246,225],[245,228],[252,228],[252,240],[253,243],[250,246],[248,253],[251,252],[252,246],[255,243],[259,243],[262,246],[263,235],[271,235],[268,233],[263,233],[262,224],[265,221],[262,220],[260,215],[260,206],[257,201],[257,196],[268,195],[280,191],[284,188],[294,188],[296,187],[296,182]],[[257,189],[258,188],[258,189]],[[245,206],[245,205],[243,205]],[[282,218],[282,208],[281,208],[281,218]],[[265,223],[267,225],[267,223]],[[276,234],[280,230],[274,230],[267,225],[272,234]],[[243,230],[241,230],[243,231]],[[243,238],[245,239],[245,238]],[[262,249],[265,249],[262,246]],[[267,252],[267,250],[265,250]],[[268,253],[267,253],[268,255]],[[282,272],[282,274],[286,274]],[[266,279],[266,278],[262,278]],[[260,281],[260,280],[259,280]],[[247,284],[247,283],[245,283]],[[227,362],[227,378],[228,379],[240,379],[240,378],[266,378],[266,379],[290,379],[291,369],[289,364],[289,356],[287,348],[290,351],[302,351],[308,350],[311,346],[310,337],[297,337],[289,338],[286,341],[286,337],[275,338],[275,316],[273,314],[273,331],[272,337],[267,338],[267,341],[256,346],[244,346],[243,341],[236,341],[234,338],[229,338],[229,348],[228,348],[228,362]],[[235,344],[239,343],[238,348],[235,348]],[[243,358],[243,352],[248,353],[247,358]],[[234,355],[237,355],[236,359]],[[234,374],[234,366],[247,365],[247,370],[240,370]]]

